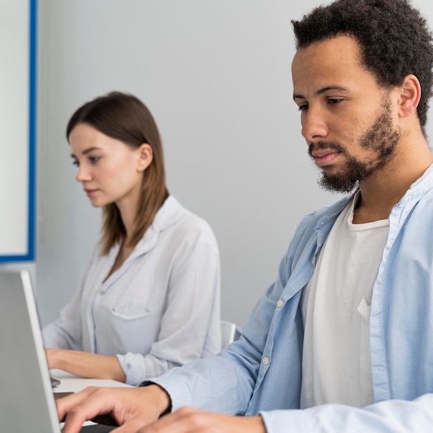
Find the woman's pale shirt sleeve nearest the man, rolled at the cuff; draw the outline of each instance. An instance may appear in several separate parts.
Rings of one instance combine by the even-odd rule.
[[[221,350],[219,251],[216,243],[190,247],[175,259],[167,308],[151,351],[117,355],[129,385]]]

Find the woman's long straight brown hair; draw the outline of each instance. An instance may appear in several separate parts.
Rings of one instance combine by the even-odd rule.
[[[80,123],[91,125],[106,136],[133,148],[147,143],[153,151],[153,160],[143,174],[136,226],[128,245],[136,246],[169,195],[165,184],[163,144],[156,122],[138,98],[127,93],[111,92],[86,102],[73,113],[66,127],[66,138],[69,139],[71,131]],[[116,203],[104,206],[102,221],[100,242],[102,255],[106,255],[126,236]]]

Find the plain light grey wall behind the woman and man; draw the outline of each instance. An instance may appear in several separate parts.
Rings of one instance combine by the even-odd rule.
[[[418,1],[433,17],[429,0]],[[98,239],[64,129],[83,102],[135,93],[163,136],[170,192],[219,239],[222,315],[242,323],[316,184],[292,101],[290,20],[317,0],[40,1],[37,303],[54,320]]]

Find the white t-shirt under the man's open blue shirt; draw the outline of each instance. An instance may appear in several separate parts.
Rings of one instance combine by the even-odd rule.
[[[335,221],[302,295],[302,408],[374,403],[369,317],[389,221],[353,224],[357,199]]]

